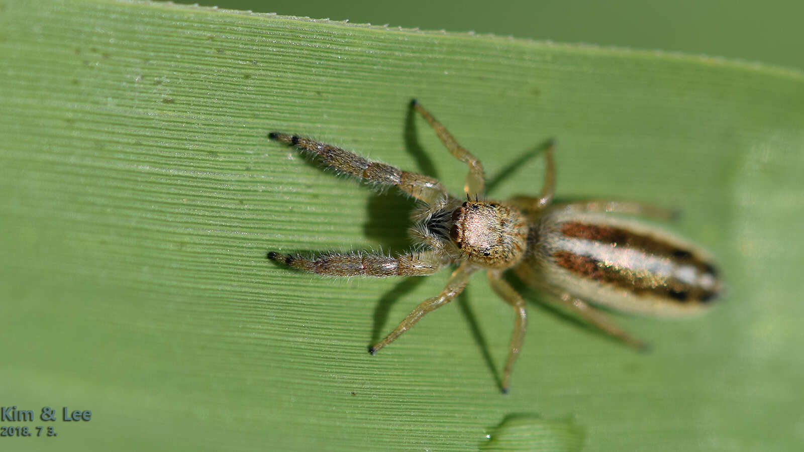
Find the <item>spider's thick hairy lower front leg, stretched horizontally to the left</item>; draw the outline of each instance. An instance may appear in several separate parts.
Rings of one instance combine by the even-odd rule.
[[[436,273],[444,265],[435,253],[410,253],[390,257],[378,253],[327,253],[313,258],[273,251],[268,258],[275,262],[322,276],[425,276]]]

